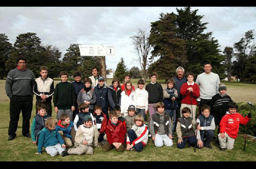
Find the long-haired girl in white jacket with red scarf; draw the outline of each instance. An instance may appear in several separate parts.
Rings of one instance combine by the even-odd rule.
[[[132,82],[128,80],[125,83],[124,91],[121,93],[121,114],[122,116],[128,115],[128,107],[134,105],[136,107],[135,91],[132,90]]]

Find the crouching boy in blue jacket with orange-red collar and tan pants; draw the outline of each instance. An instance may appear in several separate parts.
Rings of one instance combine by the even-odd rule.
[[[56,126],[56,130],[59,131],[60,136],[65,142],[66,147],[71,147],[75,140],[75,129],[74,124],[70,121],[67,114],[61,114],[60,120]]]

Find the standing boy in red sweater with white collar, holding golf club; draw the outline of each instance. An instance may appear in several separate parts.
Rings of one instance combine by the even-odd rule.
[[[191,110],[191,114],[189,115],[193,119],[196,116],[196,99],[200,96],[200,89],[199,86],[193,81],[194,74],[192,72],[188,72],[187,74],[187,83],[183,83],[180,88],[180,95],[182,96],[181,99],[181,106],[180,106],[180,117],[182,117],[181,110],[183,107],[188,107]],[[192,105],[191,105],[192,99]],[[200,112],[200,111],[199,111]]]

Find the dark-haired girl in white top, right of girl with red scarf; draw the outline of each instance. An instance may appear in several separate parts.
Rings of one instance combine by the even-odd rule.
[[[148,113],[148,91],[144,89],[144,80],[138,81],[138,88],[136,93],[136,112],[142,114],[144,121],[146,120],[146,114]]]

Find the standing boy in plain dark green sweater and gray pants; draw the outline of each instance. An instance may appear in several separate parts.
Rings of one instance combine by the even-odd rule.
[[[73,120],[73,111],[75,110],[76,94],[72,83],[67,82],[68,73],[60,72],[61,82],[55,86],[53,94],[54,110],[57,113],[57,119],[60,120],[61,114],[67,114],[70,120]]]

